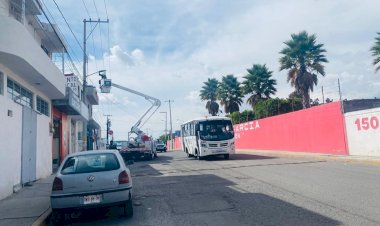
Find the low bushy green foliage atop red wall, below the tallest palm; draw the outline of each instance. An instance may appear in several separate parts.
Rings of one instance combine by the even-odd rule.
[[[255,117],[261,119],[301,109],[302,100],[299,98],[261,100],[256,104]]]

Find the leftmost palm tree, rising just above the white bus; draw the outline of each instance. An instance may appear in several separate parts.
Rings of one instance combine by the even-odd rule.
[[[207,79],[207,82],[203,83],[201,93],[199,96],[201,100],[206,101],[206,109],[208,113],[212,116],[215,116],[219,112],[219,104],[216,103],[217,91],[219,82],[215,78]]]

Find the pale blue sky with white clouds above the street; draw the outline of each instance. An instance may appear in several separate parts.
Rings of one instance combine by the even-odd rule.
[[[44,0],[72,46],[82,54],[56,6]],[[207,78],[234,74],[242,81],[254,63],[266,64],[277,79],[278,97],[292,92],[286,72],[279,72],[279,51],[290,34],[302,30],[317,35],[327,50],[326,76],[313,98],[337,100],[339,78],[343,98],[380,98],[380,73],[374,73],[369,51],[379,32],[380,1],[374,0],[56,0],[82,42],[83,19],[110,19],[88,40],[89,72],[106,69],[113,82],[164,100],[174,100],[173,128],[181,121],[207,114],[199,90]],[[96,13],[95,5],[98,10]],[[105,5],[107,6],[107,13]],[[83,4],[84,3],[84,4]],[[85,9],[87,7],[88,13]],[[109,29],[109,42],[108,42]],[[102,48],[103,47],[103,48]],[[103,66],[104,65],[104,66]],[[90,77],[97,84],[95,76]],[[112,114],[115,139],[125,139],[131,125],[149,103],[113,89],[100,94],[95,119]],[[242,109],[248,109],[247,104]],[[169,111],[163,102],[159,111]],[[145,130],[163,133],[164,114],[155,114]]]

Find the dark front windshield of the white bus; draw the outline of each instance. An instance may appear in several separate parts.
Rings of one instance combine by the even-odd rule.
[[[232,123],[229,120],[212,120],[199,123],[201,140],[229,140],[234,137]]]

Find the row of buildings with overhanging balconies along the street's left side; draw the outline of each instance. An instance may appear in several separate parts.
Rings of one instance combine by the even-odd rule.
[[[68,153],[94,149],[88,131],[100,131],[96,90],[70,87],[53,61],[66,54],[63,35],[40,16],[39,0],[0,0],[0,199],[49,176]]]

